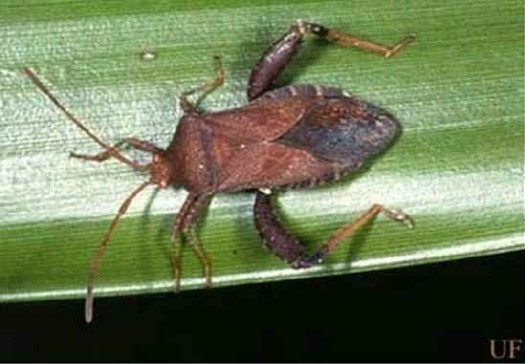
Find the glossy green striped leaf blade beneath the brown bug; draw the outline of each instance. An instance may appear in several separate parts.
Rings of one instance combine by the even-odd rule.
[[[294,271],[262,248],[253,195],[217,195],[199,230],[215,285],[524,249],[523,14],[517,0],[3,0],[0,300],[83,295],[109,219],[144,180],[115,161],[69,159],[70,151],[99,149],[22,67],[107,142],[136,136],[167,146],[182,113],[177,95],[213,78],[213,55],[222,56],[226,82],[202,108],[242,105],[251,66],[295,19],[384,44],[412,32],[417,41],[390,60],[316,39],[303,46],[280,84],[351,91],[391,111],[404,131],[366,171],[280,193],[284,223],[311,251],[374,202],[402,208],[416,228],[379,217],[326,264]],[[150,190],[134,201],[104,258],[96,295],[171,289],[169,229],[185,196]],[[182,284],[202,287],[191,250]]]

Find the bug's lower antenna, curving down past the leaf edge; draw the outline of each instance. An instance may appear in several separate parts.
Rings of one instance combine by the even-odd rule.
[[[109,244],[109,240],[111,238],[111,234],[113,233],[113,230],[117,226],[120,218],[126,213],[128,210],[129,205],[131,204],[131,201],[139,194],[140,191],[142,191],[146,186],[151,184],[150,181],[143,182],[141,185],[136,187],[129,195],[126,197],[124,202],[120,205],[117,214],[111,220],[111,223],[109,224],[108,230],[106,231],[106,234],[104,235],[104,239],[102,239],[102,244],[98,247],[97,251],[95,252],[95,255],[91,259],[91,263],[89,264],[89,270],[88,270],[88,279],[87,279],[87,294],[86,294],[86,305],[85,305],[85,320],[87,323],[90,323],[93,319],[93,283],[95,281],[95,278],[98,275],[98,272],[100,271],[100,263],[102,262],[102,257],[104,256],[104,253],[106,252],[106,249]]]

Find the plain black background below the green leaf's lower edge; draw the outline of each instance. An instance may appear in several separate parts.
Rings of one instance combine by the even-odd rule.
[[[495,361],[521,339],[525,252],[331,278],[2,305],[3,361]],[[513,360],[507,359],[506,362]]]

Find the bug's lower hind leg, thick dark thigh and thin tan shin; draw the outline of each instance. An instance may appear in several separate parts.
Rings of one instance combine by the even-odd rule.
[[[314,254],[307,255],[304,247],[279,222],[271,204],[271,195],[257,192],[254,206],[255,226],[264,244],[295,269],[308,268],[322,263],[339,243],[380,213],[394,221],[406,224],[409,228],[413,226],[412,219],[403,212],[388,210],[379,204],[374,204],[367,212],[336,230]]]

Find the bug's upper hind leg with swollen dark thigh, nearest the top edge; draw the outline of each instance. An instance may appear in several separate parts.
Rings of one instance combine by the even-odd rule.
[[[290,29],[277,42],[273,43],[264,52],[263,56],[253,67],[248,81],[248,99],[253,100],[261,96],[270,89],[272,82],[284,70],[286,65],[297,53],[299,45],[303,42],[305,34],[314,34],[324,38],[329,42],[339,44],[344,47],[357,47],[366,51],[379,54],[389,58],[398,53],[409,43],[415,40],[413,34],[406,36],[392,47],[368,42],[350,34],[344,34],[326,28],[323,25],[296,21],[292,23]]]

